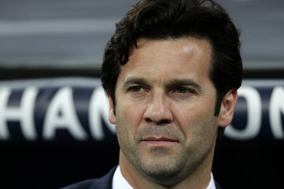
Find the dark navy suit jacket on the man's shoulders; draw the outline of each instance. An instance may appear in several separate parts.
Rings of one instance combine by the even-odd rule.
[[[116,168],[117,166],[113,167],[109,173],[101,178],[84,180],[61,189],[112,189],[112,177]],[[216,181],[215,186],[216,189],[221,189]]]

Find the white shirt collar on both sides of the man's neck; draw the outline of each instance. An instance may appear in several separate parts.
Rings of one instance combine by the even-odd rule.
[[[117,166],[112,177],[112,189],[133,189],[133,187],[122,176],[119,166]],[[206,189],[216,189],[212,172],[209,185]]]

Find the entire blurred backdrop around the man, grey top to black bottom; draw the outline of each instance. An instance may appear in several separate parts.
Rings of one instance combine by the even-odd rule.
[[[218,141],[222,188],[279,188],[284,1],[220,0],[241,28],[243,84]],[[0,188],[60,188],[118,163],[104,48],[136,0],[0,0]]]

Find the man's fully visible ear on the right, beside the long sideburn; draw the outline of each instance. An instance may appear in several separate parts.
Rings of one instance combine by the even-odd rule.
[[[232,122],[237,99],[237,89],[230,90],[224,97],[219,114],[220,127],[226,127]]]

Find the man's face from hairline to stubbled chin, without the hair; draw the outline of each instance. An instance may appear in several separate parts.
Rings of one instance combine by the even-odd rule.
[[[130,52],[117,79],[116,115],[110,113],[122,161],[158,182],[211,164],[220,116],[209,42],[141,39]]]

